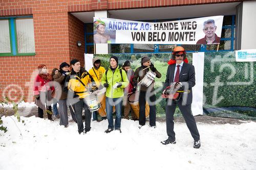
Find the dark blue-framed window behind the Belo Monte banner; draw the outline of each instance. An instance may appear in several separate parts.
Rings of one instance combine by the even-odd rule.
[[[189,18],[184,18],[189,19]],[[151,20],[151,22],[163,22],[179,19]],[[144,20],[143,20],[144,21]],[[224,16],[222,24],[221,42],[211,45],[184,44],[182,45],[187,52],[208,52],[208,51],[233,51],[234,41],[236,40],[235,27],[236,15]],[[86,53],[93,53],[93,23],[86,23]],[[109,44],[111,53],[170,53],[175,47],[174,44]],[[181,45],[181,44],[177,44]],[[90,48],[90,50],[89,50]],[[218,49],[217,49],[218,48]]]

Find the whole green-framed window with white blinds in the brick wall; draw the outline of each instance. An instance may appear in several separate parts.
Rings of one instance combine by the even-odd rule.
[[[35,55],[32,17],[0,18],[0,56]]]

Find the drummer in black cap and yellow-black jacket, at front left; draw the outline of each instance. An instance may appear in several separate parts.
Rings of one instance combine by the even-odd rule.
[[[91,130],[91,111],[88,109],[84,98],[89,94],[89,83],[93,83],[93,78],[89,75],[87,70],[80,66],[80,62],[77,59],[73,59],[70,61],[70,65],[72,66],[70,81],[68,84],[69,93],[68,98],[72,94],[74,100],[74,111],[75,117],[77,120],[78,133],[81,134],[83,132],[83,123],[82,123],[82,108],[84,108],[84,115],[86,116],[84,133],[87,133]],[[68,102],[70,103],[70,102]]]

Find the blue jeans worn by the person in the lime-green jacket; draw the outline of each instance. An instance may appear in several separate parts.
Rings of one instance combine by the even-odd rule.
[[[121,127],[121,110],[122,110],[122,98],[108,98],[106,97],[106,118],[109,121],[109,129],[114,129],[113,120],[113,106],[116,107],[116,119],[115,129]]]

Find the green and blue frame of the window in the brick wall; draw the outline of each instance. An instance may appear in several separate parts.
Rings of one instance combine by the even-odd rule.
[[[0,56],[35,56],[35,53],[18,53],[17,35],[16,35],[16,18],[33,18],[33,16],[15,16],[15,17],[0,17],[1,19],[9,20],[10,47],[11,53],[0,53]],[[35,36],[35,35],[34,35]]]

